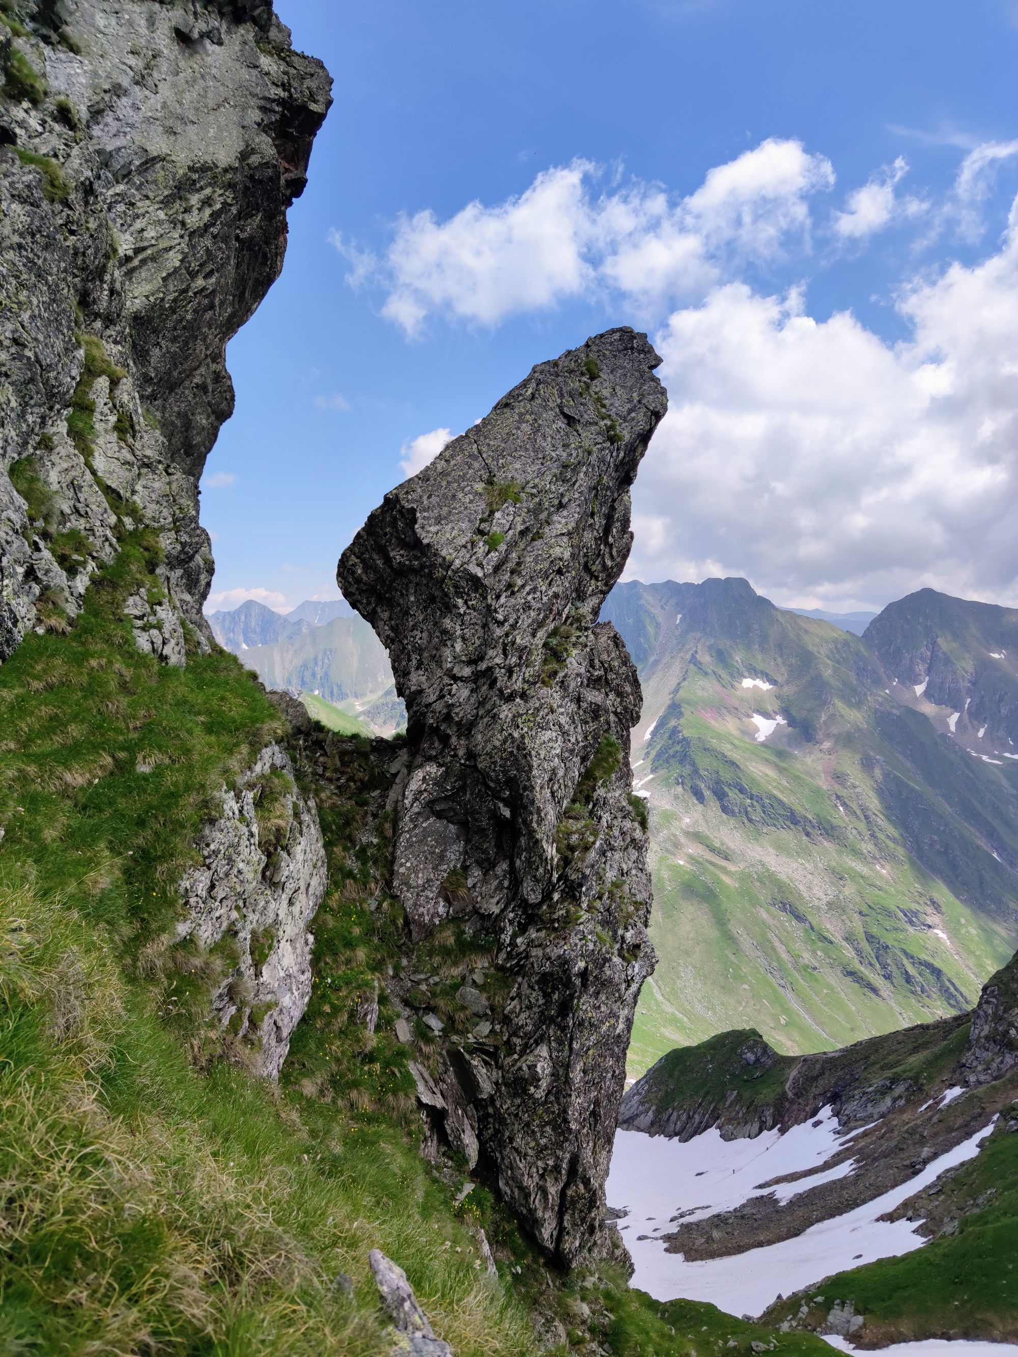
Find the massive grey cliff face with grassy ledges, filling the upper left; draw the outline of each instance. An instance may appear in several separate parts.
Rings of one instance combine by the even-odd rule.
[[[261,0],[15,0],[0,64],[0,660],[155,529],[143,649],[212,579],[198,478],[225,343],[277,277],[330,102]]]

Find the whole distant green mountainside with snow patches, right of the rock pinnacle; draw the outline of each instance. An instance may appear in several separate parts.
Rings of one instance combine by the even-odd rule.
[[[930,594],[863,638],[741,579],[609,597],[643,684],[660,955],[633,1073],[728,1029],[806,1052],[961,1012],[1010,957],[1018,613]]]

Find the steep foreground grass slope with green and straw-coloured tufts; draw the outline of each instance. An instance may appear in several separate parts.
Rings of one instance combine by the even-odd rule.
[[[399,928],[396,906],[365,905],[384,849],[357,844],[358,741],[341,750],[350,797],[322,807],[330,893],[282,1086],[221,1058],[205,1004],[228,958],[174,946],[175,882],[278,721],[225,653],[185,670],[137,654],[119,609],[155,596],[156,559],[126,537],[79,623],[0,668],[0,1349],[380,1353],[381,1247],[457,1357],[533,1352],[533,1304],[569,1319],[573,1293],[548,1292],[489,1194],[457,1209],[460,1179],[421,1160],[384,995],[373,1041],[350,1020]],[[498,1281],[478,1266],[480,1221],[508,1259]],[[687,1337],[619,1277],[584,1295],[619,1353],[703,1350],[703,1326],[717,1348],[770,1339],[711,1307]]]

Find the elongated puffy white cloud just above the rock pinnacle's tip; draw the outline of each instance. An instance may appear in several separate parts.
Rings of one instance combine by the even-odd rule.
[[[793,239],[808,246],[808,199],[833,185],[833,171],[801,142],[771,138],[710,170],[685,198],[642,180],[599,191],[601,179],[574,160],[494,206],[471,202],[445,221],[430,210],[400,217],[381,261],[338,232],[330,240],[352,263],[349,282],[384,284],[383,315],[407,335],[430,315],[494,326],[607,289],[660,305],[702,296]]]

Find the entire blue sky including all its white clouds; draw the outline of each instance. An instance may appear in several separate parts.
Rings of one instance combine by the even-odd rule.
[[[277,0],[335,106],[231,343],[210,607],[335,597],[527,370],[650,332],[630,578],[1018,604],[1018,4]]]

